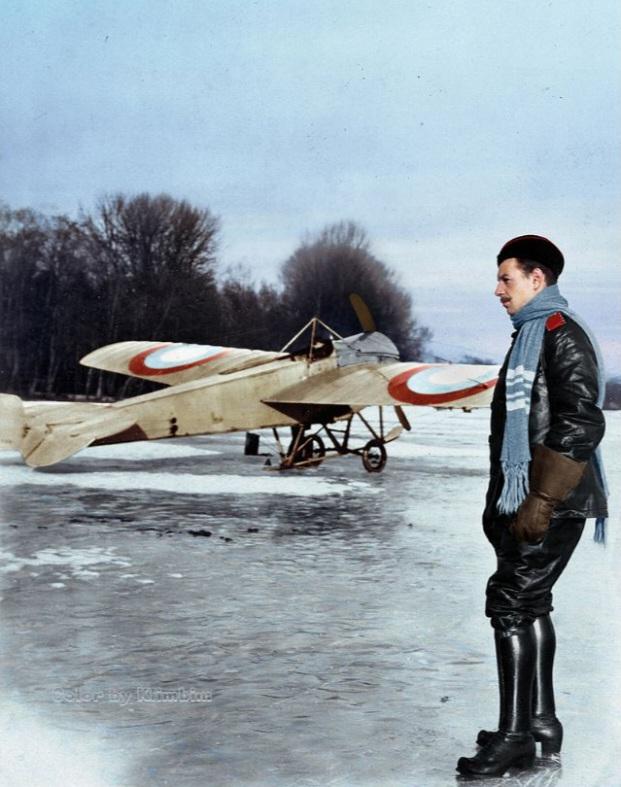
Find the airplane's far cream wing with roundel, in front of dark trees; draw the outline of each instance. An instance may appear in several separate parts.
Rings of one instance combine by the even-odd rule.
[[[214,347],[209,344],[117,342],[88,353],[80,359],[80,363],[164,385],[177,385],[214,374],[251,369],[289,357],[277,352]]]

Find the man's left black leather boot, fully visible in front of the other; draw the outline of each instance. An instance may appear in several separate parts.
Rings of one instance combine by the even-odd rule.
[[[535,741],[530,732],[535,634],[532,626],[495,630],[501,697],[500,724],[474,757],[461,757],[457,770],[467,776],[502,776],[509,769],[530,768]]]

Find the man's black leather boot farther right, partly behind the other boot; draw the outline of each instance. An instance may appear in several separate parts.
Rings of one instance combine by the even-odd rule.
[[[550,757],[559,754],[563,743],[563,725],[556,717],[552,680],[556,635],[550,615],[536,618],[532,627],[535,636],[535,677],[531,732],[533,738],[541,743],[542,755]],[[496,733],[481,730],[477,735],[477,744],[485,746],[493,735]]]

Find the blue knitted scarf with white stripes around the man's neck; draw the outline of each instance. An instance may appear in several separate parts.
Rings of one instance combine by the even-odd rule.
[[[606,375],[602,354],[597,341],[583,320],[568,308],[568,303],[561,295],[558,285],[545,287],[531,301],[511,317],[515,328],[519,330],[507,366],[506,376],[506,409],[505,431],[502,442],[500,460],[504,474],[504,486],[498,510],[502,514],[512,514],[528,494],[528,468],[531,460],[528,439],[528,415],[533,390],[533,382],[537,373],[537,365],[541,355],[541,346],[545,332],[546,320],[555,312],[563,312],[584,330],[589,337],[597,357],[599,375],[598,405],[604,402]],[[608,494],[608,486],[604,473],[599,448],[596,452],[596,466],[602,486]],[[596,541],[605,539],[605,521],[598,519],[596,523]]]

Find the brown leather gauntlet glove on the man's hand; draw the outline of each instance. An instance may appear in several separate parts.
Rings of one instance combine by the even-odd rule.
[[[555,506],[578,486],[586,462],[576,462],[545,445],[536,445],[530,466],[530,492],[511,525],[518,541],[540,541]]]

